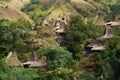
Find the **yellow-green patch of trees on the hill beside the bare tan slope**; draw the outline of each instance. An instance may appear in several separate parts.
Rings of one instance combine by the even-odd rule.
[[[36,23],[39,23],[44,16],[47,15],[44,10],[46,10],[46,6],[43,6],[39,0],[31,0],[30,3],[26,4],[22,9],[22,11],[27,13]]]

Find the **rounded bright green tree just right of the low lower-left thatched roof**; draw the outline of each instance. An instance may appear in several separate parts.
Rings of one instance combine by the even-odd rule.
[[[72,53],[61,47],[49,47],[46,50],[43,49],[43,52],[47,57],[48,70],[55,70],[61,67],[71,68],[73,64]]]

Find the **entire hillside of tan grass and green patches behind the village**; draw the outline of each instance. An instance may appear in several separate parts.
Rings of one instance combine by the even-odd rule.
[[[104,18],[106,14],[110,13],[109,4],[113,5],[119,2],[118,0],[6,0],[0,1],[1,15],[0,18],[5,18],[9,20],[16,20],[18,18],[24,18],[25,20],[32,22],[39,22],[43,17],[47,20],[57,17],[68,17],[69,15],[78,15],[80,13],[83,17],[87,16],[88,20],[94,20],[95,16],[102,14],[101,18]],[[30,19],[24,12],[20,9],[24,8],[24,5],[28,3],[35,3],[36,9],[32,11],[24,12],[32,19]],[[35,6],[28,6],[29,8],[34,8]],[[6,7],[6,8],[3,8]],[[26,7],[27,9],[27,7]],[[46,10],[43,10],[46,9]],[[9,13],[9,14],[8,14]],[[12,15],[13,14],[13,15]],[[10,16],[11,15],[11,16]],[[36,15],[36,17],[35,17]],[[64,16],[63,16],[64,15]],[[2,17],[1,17],[2,16]],[[34,16],[34,17],[33,17]],[[39,17],[42,16],[42,17]],[[39,19],[37,19],[39,18]],[[38,21],[37,21],[38,20]]]

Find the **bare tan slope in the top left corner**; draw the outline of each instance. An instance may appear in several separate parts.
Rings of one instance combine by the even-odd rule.
[[[30,23],[33,23],[33,21],[22,11],[20,11],[20,8],[29,0],[24,0],[24,2],[21,2],[19,0],[11,0],[10,2],[5,2],[6,7],[0,6],[0,18],[1,19],[8,19],[8,20],[17,20],[19,18],[23,18]]]

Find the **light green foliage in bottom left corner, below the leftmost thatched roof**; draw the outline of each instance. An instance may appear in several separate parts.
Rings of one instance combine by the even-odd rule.
[[[33,80],[39,78],[37,72],[33,69],[14,68],[10,72],[1,73],[1,80]]]

